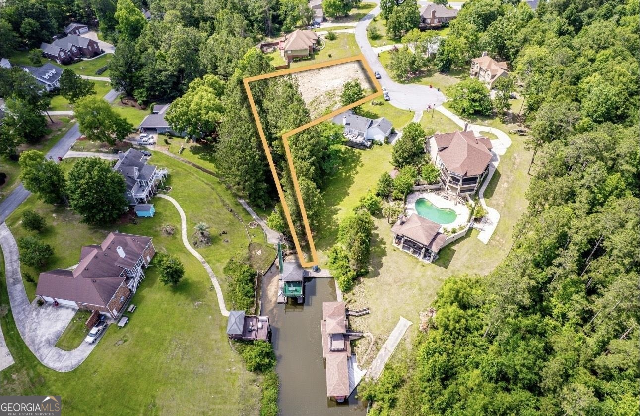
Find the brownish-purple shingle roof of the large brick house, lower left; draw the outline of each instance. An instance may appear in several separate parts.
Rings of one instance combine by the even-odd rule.
[[[54,269],[40,273],[36,295],[106,306],[125,280],[120,276],[123,269],[136,264],[150,241],[150,237],[111,232],[102,244],[81,249],[80,262],[73,271]]]

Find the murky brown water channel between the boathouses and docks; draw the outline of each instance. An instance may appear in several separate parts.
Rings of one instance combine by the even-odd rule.
[[[304,305],[278,304],[277,281],[278,271],[273,266],[262,282],[262,314],[269,316],[271,342],[278,358],[280,414],[364,416],[367,404],[355,399],[357,389],[348,403],[339,404],[326,397],[320,321],[322,303],[336,300],[333,279],[305,281]]]

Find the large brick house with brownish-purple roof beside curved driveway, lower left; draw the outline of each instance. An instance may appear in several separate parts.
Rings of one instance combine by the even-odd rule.
[[[36,296],[116,318],[145,278],[143,268],[155,254],[151,237],[111,232],[102,243],[82,248],[75,269],[40,273]]]

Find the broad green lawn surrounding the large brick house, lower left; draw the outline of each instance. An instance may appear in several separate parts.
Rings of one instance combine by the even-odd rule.
[[[259,228],[247,231],[234,216],[237,214],[246,224],[251,220],[214,177],[158,152],[150,161],[169,168],[166,183],[173,187],[170,195],[186,211],[189,233],[198,221],[211,226],[212,245],[198,251],[219,276],[228,259],[247,257],[250,242],[264,243]],[[69,166],[72,163],[65,162]],[[101,413],[110,414],[259,412],[262,380],[244,371],[241,358],[229,348],[227,319],[220,315],[209,276],[186,251],[179,233],[163,236],[160,232],[166,223],[179,227],[177,211],[166,200],[155,198],[153,203],[154,218],[104,228],[88,227],[67,209],[41,204],[33,196],[8,218],[16,237],[26,232],[17,224],[24,209],[34,209],[47,218],[49,229],[42,238],[56,247],[47,268],[75,264],[81,246],[99,243],[109,230],[118,229],[154,237],[156,250],[177,255],[186,273],[182,282],[172,288],[158,281],[154,266],[148,268],[147,278],[133,299],[138,309],[127,326],[111,325],[87,360],[69,373],[40,365],[20,340],[12,315],[4,312],[10,308],[3,273],[1,323],[17,362],[0,373],[3,394],[55,392],[65,397],[65,414],[70,415],[95,412],[97,402]],[[227,234],[220,235],[222,231]],[[220,284],[226,291],[227,282],[222,279]],[[87,388],[96,380],[108,388]]]

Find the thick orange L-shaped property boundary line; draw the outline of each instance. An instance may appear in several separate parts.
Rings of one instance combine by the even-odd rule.
[[[291,179],[293,182],[294,191],[296,192],[296,198],[298,199],[298,204],[300,205],[300,214],[302,216],[302,222],[305,225],[305,232],[307,233],[309,249],[311,252],[312,261],[306,262],[302,254],[300,241],[298,240],[298,234],[296,234],[296,230],[293,225],[293,220],[291,218],[291,211],[289,211],[289,206],[285,201],[284,191],[282,191],[282,184],[280,184],[280,179],[278,179],[278,172],[276,170],[275,164],[273,163],[271,150],[269,150],[269,143],[267,142],[267,138],[264,135],[264,130],[262,129],[262,122],[260,122],[260,116],[258,114],[258,110],[255,108],[255,101],[253,100],[253,95],[251,93],[251,89],[249,88],[249,83],[252,83],[253,81],[261,81],[263,79],[296,74],[297,72],[304,72],[304,71],[318,69],[318,68],[331,67],[333,65],[340,65],[342,63],[353,62],[353,61],[360,61],[362,63],[362,67],[364,67],[365,71],[367,72],[367,75],[369,76],[369,80],[373,83],[374,87],[376,88],[376,92],[372,93],[371,95],[367,95],[367,97],[364,97],[364,99],[358,100],[352,104],[349,104],[348,106],[339,108],[335,111],[332,111],[329,114],[321,116],[320,118],[316,118],[316,120],[312,120],[307,124],[303,124],[300,127],[296,127],[296,129],[287,131],[284,134],[282,134],[282,144],[284,145],[285,154],[287,156],[287,163],[289,164],[289,170],[291,170]],[[288,138],[293,134],[299,133],[305,129],[308,129],[309,127],[312,127],[316,124],[320,124],[326,120],[329,120],[330,118],[333,118],[334,116],[339,115],[340,113],[344,113],[344,111],[347,111],[348,109],[360,106],[361,104],[364,104],[365,102],[375,97],[380,97],[380,95],[382,95],[382,89],[381,89],[380,83],[378,83],[378,80],[373,74],[373,70],[371,69],[371,67],[369,67],[369,64],[367,64],[367,61],[365,61],[364,56],[362,54],[358,56],[352,56],[350,58],[342,58],[339,60],[317,63],[315,65],[308,65],[307,67],[292,68],[287,70],[281,70],[278,72],[271,72],[269,74],[263,74],[255,77],[248,77],[243,79],[243,83],[244,83],[244,90],[246,91],[246,95],[249,99],[249,104],[251,106],[253,118],[255,118],[255,124],[258,127],[258,133],[260,134],[260,139],[262,140],[262,146],[264,147],[264,152],[266,153],[267,160],[269,161],[269,168],[271,168],[271,174],[273,175],[273,180],[275,181],[276,188],[278,189],[278,196],[280,196],[280,202],[282,202],[282,209],[284,211],[285,216],[287,217],[289,230],[291,230],[291,237],[293,238],[293,242],[296,245],[296,250],[298,251],[298,259],[300,260],[300,264],[302,267],[315,266],[316,264],[318,264],[316,246],[314,244],[314,239],[311,234],[311,228],[309,226],[309,220],[307,218],[307,211],[305,210],[305,204],[302,200],[302,194],[300,193],[300,184],[298,183],[298,175],[296,175],[296,168],[294,167],[293,159],[291,157],[291,150],[289,149]]]

